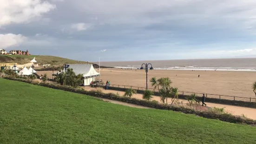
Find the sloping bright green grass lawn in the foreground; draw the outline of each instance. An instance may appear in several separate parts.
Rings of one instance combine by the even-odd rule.
[[[256,144],[256,127],[0,79],[0,144]]]

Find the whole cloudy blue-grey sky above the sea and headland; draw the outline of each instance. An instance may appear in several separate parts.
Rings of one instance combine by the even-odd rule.
[[[83,61],[256,56],[256,0],[0,0],[0,48]]]

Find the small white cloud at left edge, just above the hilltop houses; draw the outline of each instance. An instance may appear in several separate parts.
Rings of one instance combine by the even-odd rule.
[[[27,38],[21,34],[0,34],[0,48],[8,48],[12,46],[19,46],[22,44]]]

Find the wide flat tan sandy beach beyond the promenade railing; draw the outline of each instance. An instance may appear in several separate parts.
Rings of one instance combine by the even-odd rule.
[[[98,72],[98,69],[96,70]],[[100,79],[103,79],[104,84],[109,80],[111,85],[146,87],[145,70],[108,68],[101,69],[100,74]],[[149,70],[148,88],[152,88],[149,81],[152,77],[169,77],[172,81],[171,86],[184,91],[184,94],[197,92],[207,93],[207,96],[212,98],[219,98],[219,96],[209,94],[256,98],[251,88],[252,83],[256,81],[256,72]],[[234,99],[224,96],[221,98]],[[236,100],[249,101],[245,98],[236,98]]]

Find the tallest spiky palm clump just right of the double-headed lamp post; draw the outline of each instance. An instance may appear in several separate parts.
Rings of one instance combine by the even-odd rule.
[[[158,88],[158,91],[160,92],[161,102],[164,103],[164,100],[171,97],[171,79],[169,78],[160,78],[156,79],[156,77],[153,77],[150,79],[151,86],[154,86],[154,88]]]

